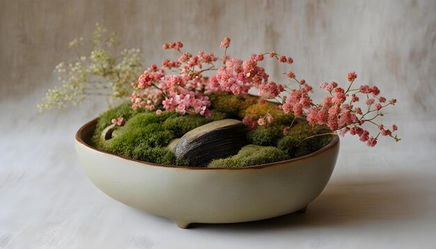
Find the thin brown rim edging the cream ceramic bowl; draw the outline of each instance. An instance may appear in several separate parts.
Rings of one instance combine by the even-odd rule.
[[[84,140],[81,139],[82,131],[84,131],[85,129],[88,129],[88,127],[90,127],[91,125],[96,124],[97,120],[98,120],[98,118],[95,118],[95,119],[87,122],[86,124],[84,124],[82,127],[80,127],[80,129],[76,133],[76,141],[78,143],[81,143],[82,145],[85,145],[86,147],[88,147],[88,148],[90,148],[92,150],[95,150],[95,151],[100,152],[102,154],[106,154],[108,156],[115,156],[115,157],[118,157],[120,159],[125,159],[125,160],[128,160],[128,161],[134,161],[134,162],[137,162],[137,163],[146,164],[146,165],[150,165],[150,166],[159,166],[159,167],[166,167],[166,168],[180,168],[180,169],[185,168],[185,169],[189,169],[189,170],[243,170],[243,169],[249,169],[249,168],[251,168],[251,169],[267,168],[267,167],[274,166],[274,165],[277,165],[277,164],[290,163],[290,162],[293,162],[293,161],[302,161],[302,160],[307,159],[307,158],[309,158],[311,156],[316,156],[318,154],[321,154],[322,152],[325,152],[327,150],[331,150],[335,145],[338,145],[338,143],[339,143],[339,136],[338,135],[331,135],[331,136],[333,136],[332,141],[328,145],[325,145],[324,147],[322,147],[320,150],[317,150],[316,152],[312,152],[310,154],[306,154],[304,156],[295,157],[293,159],[288,159],[288,160],[285,160],[285,161],[276,161],[274,163],[265,163],[265,164],[259,164],[259,165],[247,166],[247,167],[240,167],[240,168],[205,168],[205,167],[173,166],[173,165],[149,163],[149,162],[146,162],[146,161],[139,161],[139,160],[136,160],[136,159],[129,159],[129,158],[125,157],[125,156],[118,156],[116,154],[111,154],[111,153],[108,153],[108,152],[104,152],[102,150],[98,150],[95,147],[92,147],[91,145],[88,145],[88,143],[85,143]]]

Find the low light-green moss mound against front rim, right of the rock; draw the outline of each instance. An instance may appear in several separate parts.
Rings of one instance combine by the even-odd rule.
[[[247,145],[242,147],[235,156],[210,162],[208,168],[240,168],[272,163],[274,161],[283,161],[286,159],[289,159],[289,156],[285,152],[277,149],[277,147]]]

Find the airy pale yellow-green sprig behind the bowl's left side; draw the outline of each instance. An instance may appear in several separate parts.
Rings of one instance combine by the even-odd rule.
[[[91,51],[83,49],[91,47],[86,43],[92,43]],[[130,83],[136,81],[143,70],[141,51],[124,49],[118,56],[114,49],[118,43],[116,33],[101,24],[96,24],[90,41],[72,40],[69,48],[79,54],[77,61],[56,65],[54,72],[59,74],[61,85],[47,91],[38,109],[64,109],[69,102],[77,105],[95,95],[107,95],[111,99],[130,96]]]

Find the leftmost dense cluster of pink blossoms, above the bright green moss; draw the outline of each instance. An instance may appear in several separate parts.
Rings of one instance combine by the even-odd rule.
[[[164,49],[180,51],[182,42],[170,42],[163,45]],[[180,51],[181,52],[181,51]],[[198,113],[209,117],[208,107],[210,101],[204,94],[207,82],[201,70],[204,65],[213,66],[217,61],[214,54],[205,54],[204,51],[192,56],[187,52],[182,53],[176,61],[164,59],[162,68],[151,65],[141,74],[138,81],[133,83],[134,92],[131,96],[132,109],[147,108],[155,110],[156,106],[162,106],[166,111],[178,111],[180,114]],[[178,68],[179,74],[166,74],[166,70]],[[200,70],[195,70],[197,67]],[[157,109],[157,114],[162,110]]]

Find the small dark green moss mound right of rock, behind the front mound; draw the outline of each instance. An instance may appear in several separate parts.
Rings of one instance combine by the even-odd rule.
[[[283,125],[274,124],[260,126],[247,133],[249,143],[261,146],[276,146],[277,140],[283,136]]]

